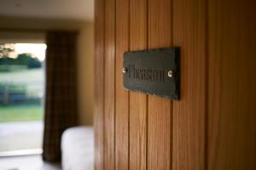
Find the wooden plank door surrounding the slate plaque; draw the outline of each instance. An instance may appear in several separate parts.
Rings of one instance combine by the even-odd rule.
[[[96,0],[96,170],[256,169],[256,2]],[[181,99],[125,91],[125,51],[181,48]]]

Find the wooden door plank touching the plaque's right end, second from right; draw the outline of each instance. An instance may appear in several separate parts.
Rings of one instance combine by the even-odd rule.
[[[181,47],[181,100],[173,102],[173,170],[205,169],[206,1],[174,0]]]

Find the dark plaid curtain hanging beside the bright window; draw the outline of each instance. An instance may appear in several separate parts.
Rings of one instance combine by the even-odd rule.
[[[61,161],[61,134],[77,125],[76,37],[76,32],[47,33],[44,161]]]

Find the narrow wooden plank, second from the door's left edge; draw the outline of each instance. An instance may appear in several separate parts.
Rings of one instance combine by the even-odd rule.
[[[105,1],[104,169],[114,169],[115,0]]]

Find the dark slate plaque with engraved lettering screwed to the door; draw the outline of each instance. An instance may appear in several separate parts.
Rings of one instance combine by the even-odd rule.
[[[179,48],[125,52],[123,75],[128,90],[179,99]]]

